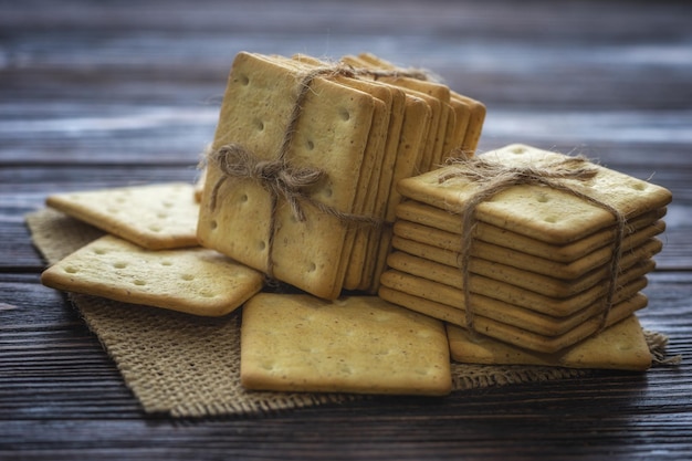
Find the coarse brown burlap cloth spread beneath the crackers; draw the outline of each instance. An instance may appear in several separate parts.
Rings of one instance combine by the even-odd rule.
[[[33,243],[53,263],[103,232],[49,208],[27,216]],[[240,315],[203,318],[70,294],[148,413],[171,417],[262,415],[371,398],[344,394],[250,391],[240,384]],[[662,357],[667,338],[649,334]],[[452,364],[454,391],[584,376],[588,370]]]

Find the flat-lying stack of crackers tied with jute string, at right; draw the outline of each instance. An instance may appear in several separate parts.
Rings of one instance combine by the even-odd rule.
[[[647,305],[664,188],[523,145],[398,186],[385,300],[538,353]]]

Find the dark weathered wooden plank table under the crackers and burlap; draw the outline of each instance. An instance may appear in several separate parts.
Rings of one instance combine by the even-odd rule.
[[[0,458],[692,458],[692,6],[684,2],[0,2]],[[580,151],[673,191],[646,327],[679,367],[262,418],[146,416],[43,287],[48,193],[191,180],[241,50],[371,51],[483,101],[481,150]]]

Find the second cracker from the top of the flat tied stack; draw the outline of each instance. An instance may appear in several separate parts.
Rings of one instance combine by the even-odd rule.
[[[658,208],[628,220],[625,229],[626,234],[641,230],[657,222],[665,216],[665,208]],[[429,205],[420,203],[416,200],[406,200],[399,203],[396,207],[396,217],[401,220],[458,234],[459,238],[455,238],[457,240],[461,239],[463,232],[461,217]],[[665,224],[661,221],[657,223],[657,226],[664,227]],[[584,254],[612,243],[616,239],[616,228],[611,227],[565,245],[554,245],[516,232],[507,231],[496,226],[476,222],[471,237],[483,242],[511,248],[535,256],[560,262],[572,262],[581,258]]]

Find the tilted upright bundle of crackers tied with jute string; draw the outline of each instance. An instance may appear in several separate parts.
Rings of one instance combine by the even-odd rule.
[[[484,115],[369,54],[240,53],[207,156],[199,242],[318,297],[375,293],[396,184],[473,150]]]

